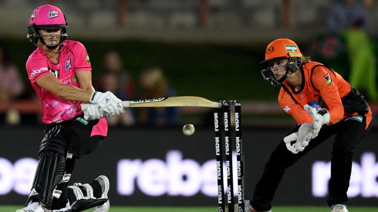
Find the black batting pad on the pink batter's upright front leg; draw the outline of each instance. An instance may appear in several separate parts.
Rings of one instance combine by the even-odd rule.
[[[39,148],[38,166],[27,204],[32,200],[38,200],[46,208],[51,208],[53,191],[64,175],[64,155],[69,134],[66,126],[58,125],[52,128],[42,139]]]

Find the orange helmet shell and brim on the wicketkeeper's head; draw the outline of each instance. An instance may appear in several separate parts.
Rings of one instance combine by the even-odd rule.
[[[261,61],[260,64],[290,57],[302,57],[298,45],[290,39],[279,38],[268,44],[265,50],[265,60]]]

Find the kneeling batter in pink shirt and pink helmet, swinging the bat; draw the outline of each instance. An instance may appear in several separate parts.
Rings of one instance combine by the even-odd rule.
[[[122,102],[111,92],[95,92],[91,63],[83,44],[65,40],[62,11],[43,5],[32,12],[28,36],[37,49],[26,62],[28,77],[43,106],[45,137],[26,207],[17,212],[107,212],[109,180],[99,176],[90,184],[68,186],[75,159],[91,153],[107,135],[104,118],[85,120],[81,104],[116,115]],[[93,111],[93,110],[92,110]]]

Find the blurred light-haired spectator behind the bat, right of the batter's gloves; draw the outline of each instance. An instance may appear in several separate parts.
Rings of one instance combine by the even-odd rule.
[[[177,96],[176,90],[169,85],[159,67],[149,67],[140,73],[140,99],[154,99]],[[143,125],[178,124],[180,111],[178,107],[141,107],[138,110],[138,122]]]

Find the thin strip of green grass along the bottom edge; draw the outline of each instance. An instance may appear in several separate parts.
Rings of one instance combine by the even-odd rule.
[[[15,212],[22,206],[0,206],[0,212]],[[348,207],[349,212],[378,212],[378,207]],[[327,207],[274,207],[273,212],[329,212]],[[85,212],[92,212],[87,210]],[[109,212],[217,212],[216,207],[117,207],[112,206]]]

